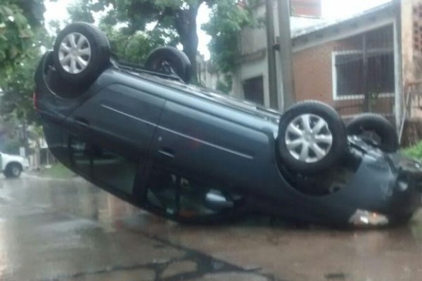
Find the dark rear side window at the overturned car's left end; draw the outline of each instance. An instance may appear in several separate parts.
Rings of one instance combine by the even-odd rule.
[[[135,160],[101,146],[70,138],[72,165],[80,174],[109,188],[132,194],[138,170]]]

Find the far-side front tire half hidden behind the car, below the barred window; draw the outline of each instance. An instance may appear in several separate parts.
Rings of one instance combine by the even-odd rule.
[[[385,152],[399,150],[399,137],[394,127],[381,115],[358,115],[347,124],[346,130],[348,135],[362,137]]]

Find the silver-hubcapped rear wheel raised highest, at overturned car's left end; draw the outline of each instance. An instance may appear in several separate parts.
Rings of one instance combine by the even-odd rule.
[[[110,63],[110,44],[106,34],[85,22],[68,25],[58,34],[53,62],[65,81],[77,85],[91,84]]]

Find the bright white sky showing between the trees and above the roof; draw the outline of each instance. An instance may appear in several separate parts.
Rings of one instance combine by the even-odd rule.
[[[359,13],[374,6],[384,4],[391,0],[321,0],[322,13],[324,18],[346,18],[347,16]],[[66,8],[75,0],[57,0],[51,2],[46,0],[46,13],[44,14],[46,22],[51,20],[64,20],[68,18],[68,11]],[[209,12],[207,6],[200,7],[198,16],[198,27],[209,20]],[[205,55],[205,59],[210,58],[210,51],[208,51],[207,44],[210,42],[210,37],[202,30],[198,30],[199,46],[198,51]]]

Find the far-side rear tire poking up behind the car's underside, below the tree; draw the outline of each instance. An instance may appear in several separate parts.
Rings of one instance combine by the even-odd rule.
[[[160,47],[152,51],[144,65],[148,70],[157,72],[174,72],[186,84],[191,81],[192,65],[188,56],[174,47]]]

